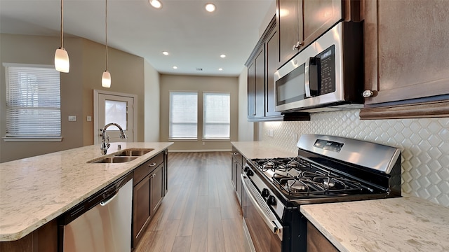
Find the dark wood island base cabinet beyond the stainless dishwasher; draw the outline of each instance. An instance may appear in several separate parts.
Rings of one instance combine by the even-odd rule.
[[[166,192],[167,152],[163,151],[134,170],[133,247],[138,244]]]

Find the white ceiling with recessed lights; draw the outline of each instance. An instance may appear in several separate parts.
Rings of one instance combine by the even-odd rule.
[[[155,9],[147,0],[108,0],[108,45],[160,73],[238,76],[274,1],[161,0]],[[208,2],[215,13],[204,10]],[[105,44],[105,0],[65,0],[64,31]],[[0,0],[0,32],[60,36],[60,0]]]

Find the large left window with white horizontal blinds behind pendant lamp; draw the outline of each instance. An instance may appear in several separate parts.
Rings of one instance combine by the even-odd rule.
[[[4,66],[5,141],[61,141],[60,73],[53,65]]]

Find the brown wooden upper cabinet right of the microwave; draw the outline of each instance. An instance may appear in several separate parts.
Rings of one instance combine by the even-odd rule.
[[[449,116],[449,1],[365,1],[362,119]]]

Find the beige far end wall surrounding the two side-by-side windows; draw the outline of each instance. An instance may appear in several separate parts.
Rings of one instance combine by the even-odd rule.
[[[231,141],[238,139],[239,127],[239,80],[237,77],[176,76],[161,74],[161,141],[168,141],[168,116],[170,112],[170,91],[198,91],[198,125],[203,125],[202,92],[230,92],[231,94]],[[228,151],[230,141],[202,141],[199,127],[196,141],[175,141],[170,151]],[[204,145],[203,145],[204,143]]]

